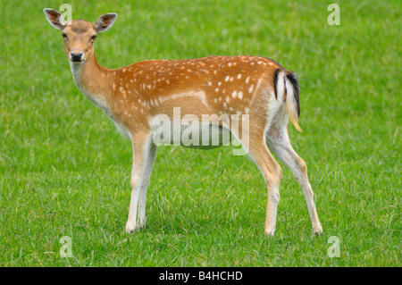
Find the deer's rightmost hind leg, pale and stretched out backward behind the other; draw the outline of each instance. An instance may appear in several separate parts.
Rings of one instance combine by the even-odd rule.
[[[308,181],[307,166],[305,161],[297,155],[293,147],[290,145],[286,125],[278,123],[272,124],[270,129],[267,131],[266,138],[269,148],[278,156],[279,159],[281,159],[282,163],[285,163],[285,165],[289,167],[290,171],[293,172],[293,175],[296,177],[298,184],[303,189],[314,234],[322,234],[322,226],[318,220],[317,211],[314,205],[314,193],[310,182]]]

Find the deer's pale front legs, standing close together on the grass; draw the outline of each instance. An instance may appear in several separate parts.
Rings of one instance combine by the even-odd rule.
[[[156,146],[152,136],[136,133],[132,138],[133,163],[131,171],[131,198],[126,231],[132,233],[145,226],[147,186],[155,161]]]

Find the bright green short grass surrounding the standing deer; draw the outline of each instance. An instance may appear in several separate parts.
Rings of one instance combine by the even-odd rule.
[[[340,5],[340,25],[327,6]],[[57,1],[1,1],[0,266],[401,266],[401,4],[396,1],[69,1],[74,19],[115,12],[96,59],[254,54],[296,71],[323,235],[283,167],[275,237],[266,188],[247,156],[159,147],[147,227],[124,232],[130,141],[76,88]],[[60,256],[63,236],[71,258]],[[331,236],[340,256],[327,256]]]

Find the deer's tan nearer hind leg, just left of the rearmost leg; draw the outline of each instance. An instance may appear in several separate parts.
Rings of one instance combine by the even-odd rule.
[[[252,125],[255,126],[256,123],[250,122],[250,126]],[[260,129],[261,130],[254,129],[250,131],[247,136],[245,132],[243,132],[243,136],[239,140],[243,147],[247,146],[247,149],[245,149],[247,154],[264,175],[264,180],[268,190],[264,232],[273,236],[276,228],[276,214],[278,212],[278,204],[280,201],[279,188],[282,170],[281,165],[275,161],[266,146],[264,128]],[[236,132],[233,132],[233,130],[232,133],[239,138],[239,135]]]

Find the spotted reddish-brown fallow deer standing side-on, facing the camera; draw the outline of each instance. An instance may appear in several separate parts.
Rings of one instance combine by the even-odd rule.
[[[322,233],[306,163],[289,143],[288,121],[300,130],[297,124],[299,87],[294,73],[270,59],[250,55],[148,60],[120,69],[106,69],[96,63],[94,42],[98,33],[112,27],[116,13],[106,13],[92,23],[64,21],[62,14],[53,9],[46,8],[44,12],[47,21],[62,30],[64,52],[77,87],[132,142],[131,198],[126,231],[131,233],[146,224],[147,185],[157,145],[151,122],[158,114],[172,118],[173,109],[180,108],[181,117],[186,114],[197,118],[203,114],[246,114],[247,132],[234,130],[230,116],[213,120],[208,127],[230,130],[263,173],[268,189],[264,232],[273,235],[280,201],[282,171],[271,150],[295,175],[306,198],[313,232],[315,235]]]

